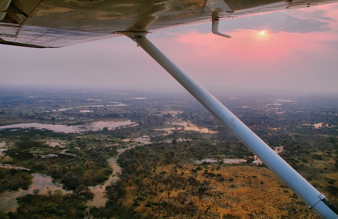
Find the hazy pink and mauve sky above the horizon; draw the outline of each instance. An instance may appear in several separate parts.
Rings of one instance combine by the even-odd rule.
[[[264,35],[260,32],[265,30]],[[202,86],[338,95],[338,3],[148,34]],[[59,49],[0,45],[0,85],[181,90],[125,36]]]

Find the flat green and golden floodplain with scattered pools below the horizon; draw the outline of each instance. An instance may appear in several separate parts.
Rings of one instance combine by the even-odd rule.
[[[338,97],[215,94],[338,204]],[[0,218],[318,218],[189,94],[0,89]]]

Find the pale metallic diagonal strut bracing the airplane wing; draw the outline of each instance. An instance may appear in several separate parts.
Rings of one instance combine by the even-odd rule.
[[[171,76],[206,107],[225,127],[249,148],[273,173],[281,179],[307,206],[322,219],[336,219],[335,213],[325,204],[327,200],[307,180],[297,173],[286,161],[276,154],[267,144],[251,131],[241,120],[231,113],[213,95],[198,84],[189,74],[163,54],[146,35],[148,32],[121,32],[134,40],[158,62]]]

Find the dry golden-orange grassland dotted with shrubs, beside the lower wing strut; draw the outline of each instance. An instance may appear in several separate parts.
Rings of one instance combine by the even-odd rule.
[[[293,192],[268,168],[232,164],[223,165],[217,170],[217,166],[218,164],[213,164],[206,168],[211,171],[211,167],[214,167],[214,173],[220,173],[224,177],[225,181],[223,182],[220,182],[216,177],[206,178],[203,174],[205,168],[198,171],[197,181],[200,183],[204,180],[210,181],[208,190],[203,194],[198,192],[198,187],[201,185],[195,187],[186,183],[184,186],[182,183],[177,188],[170,183],[165,186],[165,183],[161,181],[166,177],[171,177],[172,180],[175,177],[179,178],[182,171],[185,172],[183,177],[188,178],[192,176],[191,170],[195,169],[196,165],[185,164],[182,168],[177,169],[177,173],[174,172],[172,165],[159,166],[156,173],[152,173],[153,176],[159,177],[156,180],[158,182],[157,192],[151,194],[152,190],[155,190],[155,186],[152,185],[151,178],[147,177],[143,180],[145,186],[141,190],[138,190],[135,184],[132,185],[132,188],[126,187],[128,191],[126,202],[128,205],[132,205],[133,199],[147,193],[146,200],[139,200],[140,206],[135,209],[138,212],[152,211],[158,217],[159,212],[156,210],[156,206],[146,208],[144,205],[147,202],[167,201],[169,206],[160,214],[160,217],[166,218],[189,218],[190,210],[194,211],[190,218],[223,218],[228,214],[239,218],[318,218],[313,211],[307,210],[304,202],[294,196]],[[306,170],[306,168],[310,167],[305,165],[303,169]],[[163,170],[167,173],[161,177],[159,173]],[[337,173],[327,174],[327,177],[336,179]],[[318,182],[325,184],[320,180]],[[168,191],[170,191],[169,198]]]

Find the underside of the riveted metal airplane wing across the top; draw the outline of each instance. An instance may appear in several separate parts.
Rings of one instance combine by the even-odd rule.
[[[0,0],[0,44],[58,48],[163,28],[338,2],[275,0]]]

